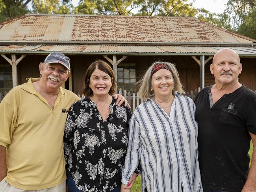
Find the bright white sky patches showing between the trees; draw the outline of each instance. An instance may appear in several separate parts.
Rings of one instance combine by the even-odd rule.
[[[74,7],[78,5],[78,2],[79,0],[72,0]],[[195,0],[193,6],[195,8],[204,8],[211,13],[223,13],[227,2],[228,0]]]

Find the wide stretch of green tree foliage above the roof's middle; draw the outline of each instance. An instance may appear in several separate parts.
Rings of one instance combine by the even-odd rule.
[[[80,0],[76,14],[195,16],[188,0]]]

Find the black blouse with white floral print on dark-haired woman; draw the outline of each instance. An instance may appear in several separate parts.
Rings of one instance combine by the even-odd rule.
[[[121,185],[131,112],[112,100],[103,121],[96,103],[84,98],[67,115],[64,155],[67,175],[84,192],[108,192]]]

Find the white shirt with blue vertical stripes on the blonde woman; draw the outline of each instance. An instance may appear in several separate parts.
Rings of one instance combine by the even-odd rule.
[[[127,184],[141,160],[142,191],[202,192],[195,103],[175,94],[170,115],[152,99],[137,107],[129,128],[122,170]]]

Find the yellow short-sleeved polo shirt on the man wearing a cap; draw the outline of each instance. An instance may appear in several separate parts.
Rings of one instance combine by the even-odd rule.
[[[79,100],[60,87],[54,109],[27,83],[14,87],[0,103],[0,145],[7,148],[7,183],[41,190],[66,179],[63,133],[67,111]]]

